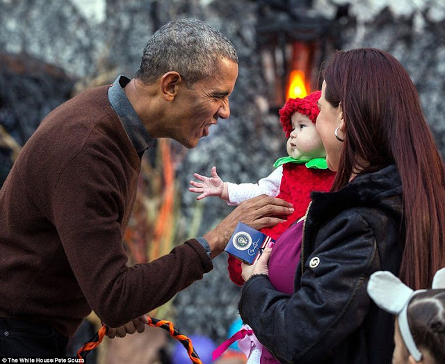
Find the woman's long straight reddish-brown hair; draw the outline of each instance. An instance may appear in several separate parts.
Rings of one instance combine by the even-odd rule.
[[[430,287],[445,266],[445,168],[410,76],[391,54],[364,48],[334,53],[323,77],[325,98],[335,107],[341,102],[346,123],[332,190],[346,185],[353,169],[395,163],[405,226],[400,276],[414,289]]]

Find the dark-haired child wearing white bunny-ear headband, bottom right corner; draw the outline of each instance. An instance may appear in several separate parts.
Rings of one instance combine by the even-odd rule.
[[[393,364],[445,363],[445,268],[436,272],[431,290],[416,291],[391,272],[375,272],[368,293],[396,315]]]

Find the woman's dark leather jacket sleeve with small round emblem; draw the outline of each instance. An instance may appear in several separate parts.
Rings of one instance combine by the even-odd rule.
[[[379,261],[373,231],[354,212],[323,229],[327,238],[307,257],[293,295],[275,290],[265,275],[243,286],[241,318],[282,363],[323,361],[369,309],[366,283]]]

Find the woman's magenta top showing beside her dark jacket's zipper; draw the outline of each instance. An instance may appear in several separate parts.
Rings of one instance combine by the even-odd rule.
[[[303,222],[289,226],[277,239],[270,254],[270,283],[288,295],[293,294],[293,281],[300,261]]]

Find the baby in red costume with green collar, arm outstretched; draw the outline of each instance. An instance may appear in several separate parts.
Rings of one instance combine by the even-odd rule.
[[[316,91],[302,99],[289,99],[280,110],[280,122],[288,138],[286,151],[289,155],[275,162],[276,169],[269,176],[260,179],[258,183],[236,184],[220,179],[216,167],[212,167],[211,177],[195,173],[194,176],[200,182],[191,181],[193,187],[189,190],[200,194],[198,200],[216,196],[229,205],[238,205],[261,194],[291,202],[295,211],[286,222],[261,229],[262,233],[276,240],[291,224],[305,215],[310,193],[314,190],[328,191],[334,181],[335,174],[327,169],[325,149],[315,129],[320,96],[321,92]],[[242,286],[241,261],[229,256],[228,263],[230,279]]]

